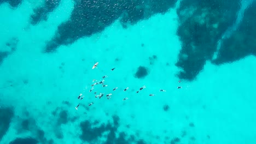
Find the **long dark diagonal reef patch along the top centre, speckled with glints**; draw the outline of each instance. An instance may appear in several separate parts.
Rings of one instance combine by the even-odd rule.
[[[77,0],[71,18],[62,23],[54,36],[46,45],[45,52],[53,52],[60,45],[72,44],[82,37],[101,32],[115,20],[120,18],[123,27],[139,20],[148,19],[156,13],[165,13],[173,7],[177,0]],[[44,13],[45,10],[41,10]],[[41,14],[40,14],[41,15]]]

